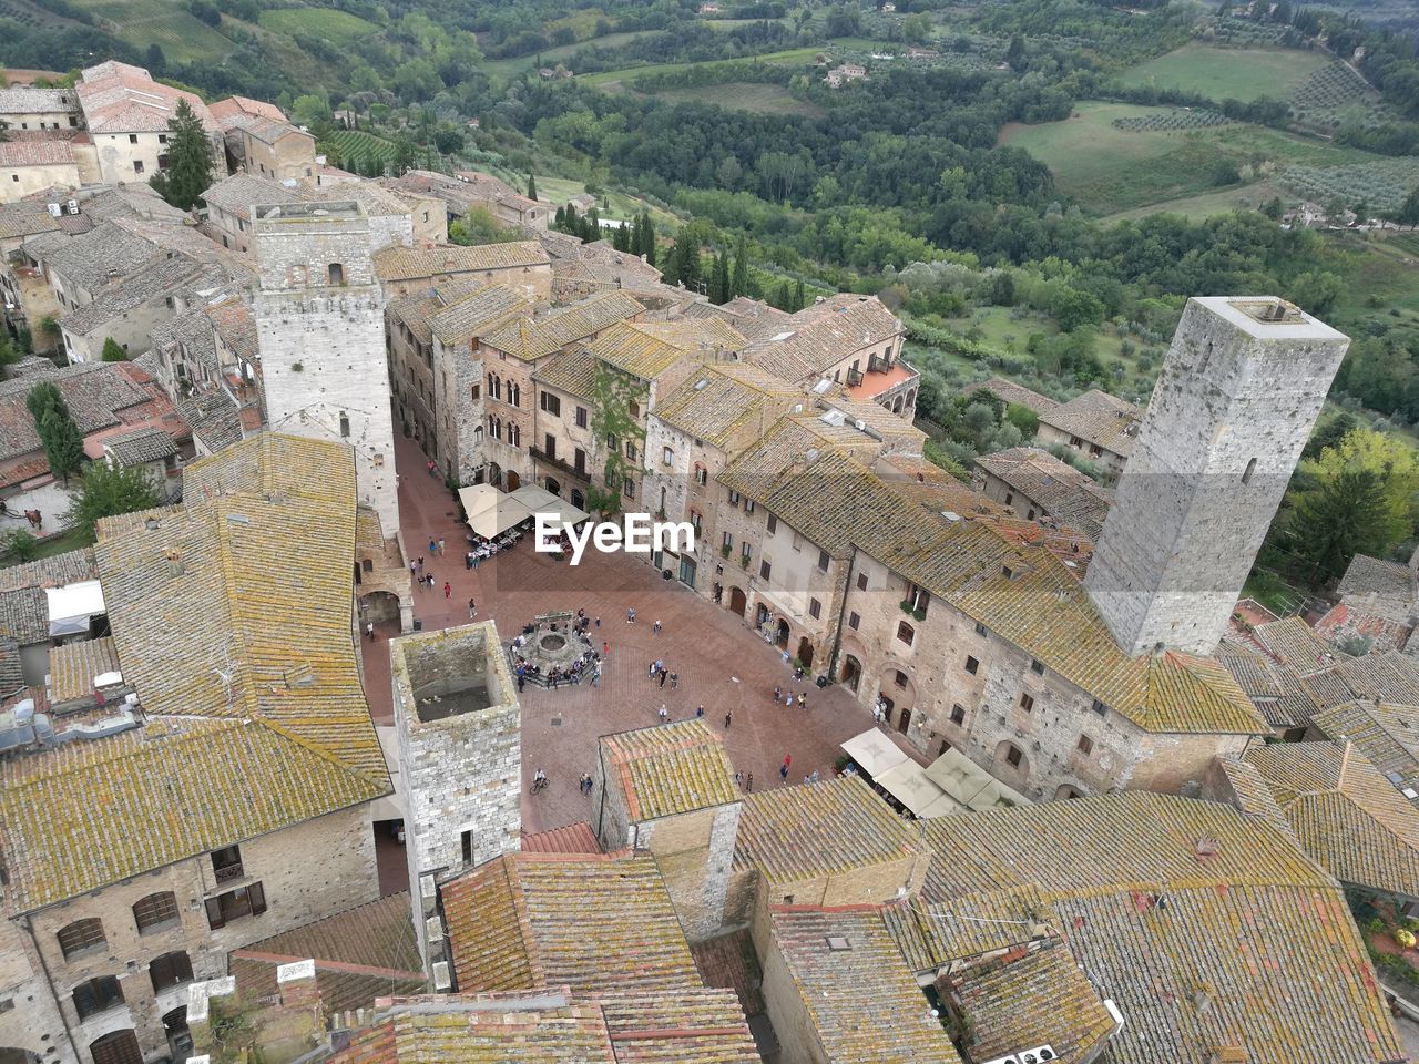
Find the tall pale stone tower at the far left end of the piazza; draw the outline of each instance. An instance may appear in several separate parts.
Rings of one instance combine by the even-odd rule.
[[[257,338],[274,431],[355,450],[362,505],[399,532],[385,298],[358,203],[253,207]]]

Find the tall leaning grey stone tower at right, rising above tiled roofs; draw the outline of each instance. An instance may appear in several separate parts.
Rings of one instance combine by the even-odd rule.
[[[1130,654],[1210,654],[1349,339],[1276,298],[1189,299],[1084,587]]]

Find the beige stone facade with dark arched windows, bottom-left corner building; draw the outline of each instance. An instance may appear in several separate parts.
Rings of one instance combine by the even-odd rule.
[[[213,855],[201,854],[30,914],[21,922],[20,926],[28,925],[24,935],[48,972],[51,1000],[57,1000],[64,1017],[61,1030],[68,1030],[74,1046],[72,1060],[92,1060],[91,1043],[125,1030],[135,1031],[146,1058],[166,1057],[180,1046],[186,1021],[177,1010],[187,1003],[190,980],[169,983],[172,976],[156,972],[155,960],[162,965],[177,955],[190,965],[193,979],[213,979],[226,972],[233,949],[379,898],[366,804],[251,838],[238,850],[240,872],[236,877],[226,872],[221,882]],[[265,911],[228,919],[213,929],[204,902],[253,885],[260,885]],[[133,905],[163,892],[175,895],[176,915],[139,931]],[[104,943],[65,958],[60,931],[88,918],[101,921]],[[186,969],[179,960],[165,972],[182,976]],[[105,976],[118,980],[122,1002],[81,1019],[75,989]],[[45,1007],[40,1003],[31,1017],[43,1017]],[[27,1023],[26,1029],[30,1027]],[[40,1030],[40,1024],[34,1029]],[[53,1036],[57,1041],[60,1031]]]

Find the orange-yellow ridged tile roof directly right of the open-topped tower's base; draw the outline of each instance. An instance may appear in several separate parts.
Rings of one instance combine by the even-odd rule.
[[[505,854],[441,888],[458,986],[576,994],[700,986],[650,857]]]

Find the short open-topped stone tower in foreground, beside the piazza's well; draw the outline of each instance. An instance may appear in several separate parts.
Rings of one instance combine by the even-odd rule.
[[[404,853],[420,951],[420,878],[521,848],[522,711],[492,621],[390,643]]]

